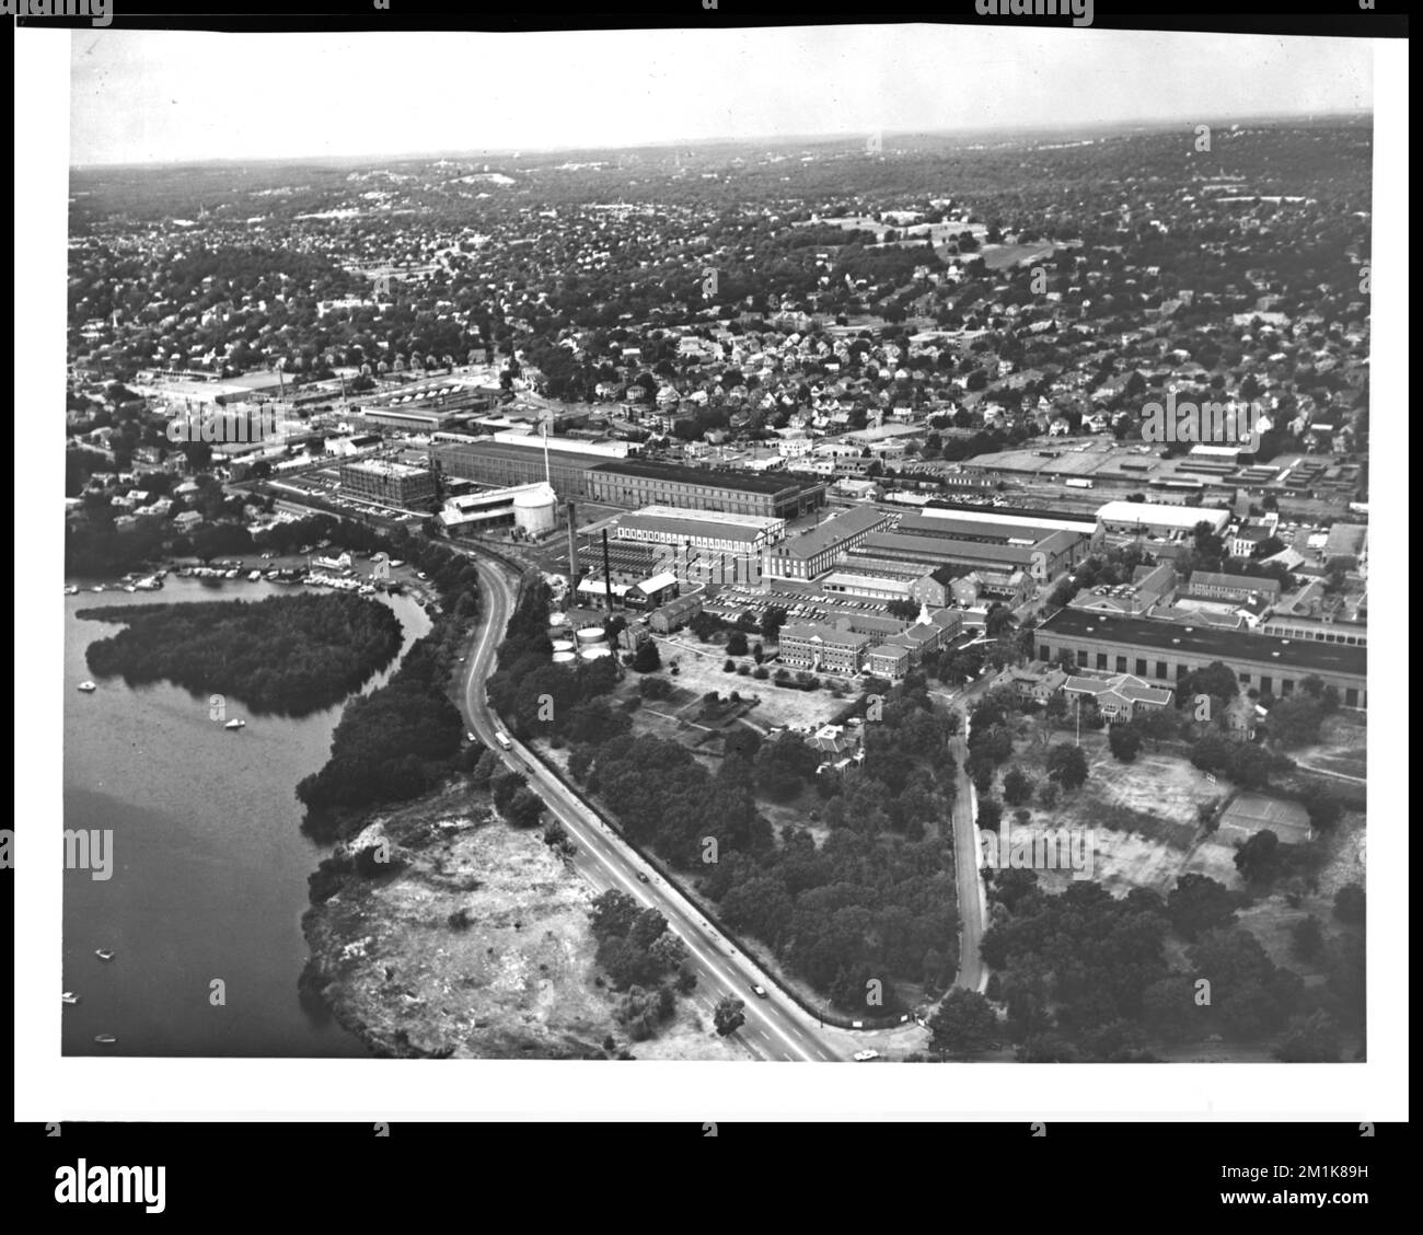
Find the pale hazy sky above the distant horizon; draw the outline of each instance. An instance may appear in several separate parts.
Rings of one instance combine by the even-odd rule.
[[[71,162],[1360,112],[1363,40],[999,24],[531,34],[77,30]]]

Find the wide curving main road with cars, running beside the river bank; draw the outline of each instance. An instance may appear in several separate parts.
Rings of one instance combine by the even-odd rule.
[[[499,750],[494,734],[502,727],[485,701],[484,683],[494,670],[494,652],[504,636],[514,606],[514,588],[504,566],[491,563],[475,552],[470,552],[468,556],[480,572],[484,602],[482,620],[468,653],[464,683],[462,711],[470,730],[499,754],[508,767],[528,778],[529,788],[544,800],[549,812],[562,822],[578,847],[572,864],[589,884],[599,892],[616,888],[642,905],[662,912],[669,929],[675,931],[687,946],[697,970],[694,999],[703,1005],[709,1019],[712,1007],[724,995],[734,995],[746,1003],[746,1023],[736,1032],[733,1040],[740,1041],[753,1056],[767,1060],[845,1059],[850,1050],[831,1041],[832,1036],[847,1037],[845,1032],[821,1030],[798,1006],[787,999],[778,999],[771,977],[740,950],[733,955],[731,945],[704,922],[692,902],[649,868],[517,740],[512,751]],[[639,872],[647,882],[638,878]],[[771,992],[770,997],[757,997],[751,992],[754,985]]]

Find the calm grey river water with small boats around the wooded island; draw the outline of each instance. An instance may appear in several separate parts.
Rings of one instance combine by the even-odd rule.
[[[303,1007],[296,987],[306,876],[329,847],[300,831],[295,788],[326,763],[344,703],[293,720],[252,716],[229,699],[228,717],[248,727],[228,731],[209,717],[206,694],[169,683],[131,689],[114,677],[94,679],[92,694],[75,689],[92,677],[88,645],[120,629],[81,620],[78,609],[292,592],[169,576],[161,592],[64,598],[64,827],[112,832],[108,879],[64,872],[64,990],[80,997],[64,1009],[67,1056],[366,1054]],[[380,599],[400,619],[404,657],[430,619],[411,598]],[[98,948],[114,959],[100,960]],[[95,1034],[117,1040],[98,1044]]]

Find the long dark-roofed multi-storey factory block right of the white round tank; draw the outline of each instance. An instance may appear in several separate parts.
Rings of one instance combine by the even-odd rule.
[[[625,460],[588,472],[588,498],[613,507],[679,507],[797,518],[825,504],[822,481]]]

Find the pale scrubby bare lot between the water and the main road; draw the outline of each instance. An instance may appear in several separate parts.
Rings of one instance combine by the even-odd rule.
[[[694,1000],[649,1041],[629,1043],[619,996],[599,987],[588,926],[592,888],[482,800],[450,790],[379,818],[406,862],[347,874],[303,922],[324,1000],[374,1051],[461,1059],[741,1059]],[[468,926],[451,925],[464,911]]]

